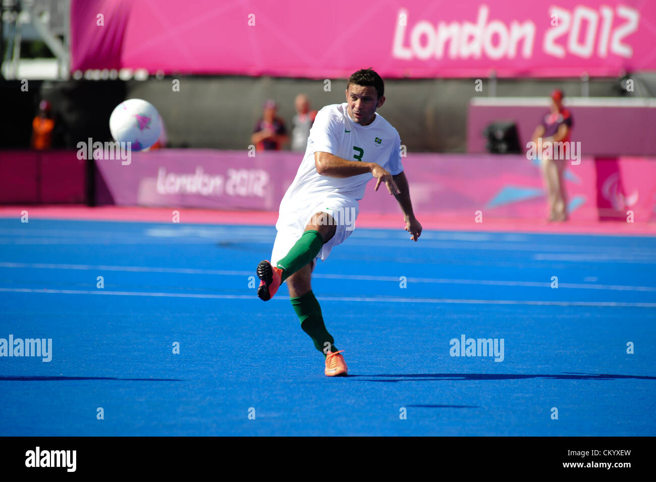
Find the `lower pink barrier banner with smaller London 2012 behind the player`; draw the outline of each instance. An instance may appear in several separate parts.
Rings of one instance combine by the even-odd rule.
[[[156,150],[131,162],[96,159],[99,204],[277,211],[301,155],[272,151]],[[656,218],[656,159],[583,157],[565,173],[571,218],[636,222]],[[417,215],[541,218],[546,197],[539,165],[525,155],[409,153],[403,160]],[[373,178],[372,178],[373,179]],[[369,182],[360,211],[398,214],[386,190]]]

